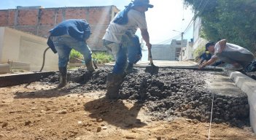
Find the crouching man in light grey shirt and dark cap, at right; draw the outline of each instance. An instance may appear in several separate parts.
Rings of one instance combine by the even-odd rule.
[[[230,64],[226,69],[234,71],[243,69],[245,72],[256,71],[255,61],[253,61],[255,57],[252,52],[244,47],[228,43],[226,39],[222,39],[216,44],[209,42],[206,44],[206,49],[214,55],[209,61],[199,66],[199,69],[212,64],[219,58],[221,61]]]

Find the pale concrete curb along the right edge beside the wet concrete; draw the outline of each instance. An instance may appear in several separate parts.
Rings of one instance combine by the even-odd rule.
[[[255,79],[247,77],[238,71],[226,71],[230,79],[241,88],[244,93],[247,93],[249,102],[249,120],[254,132],[256,132],[256,82]]]

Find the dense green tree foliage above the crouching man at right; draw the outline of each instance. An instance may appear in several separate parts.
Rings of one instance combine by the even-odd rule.
[[[201,37],[213,42],[227,39],[256,52],[255,0],[184,0],[202,20]]]

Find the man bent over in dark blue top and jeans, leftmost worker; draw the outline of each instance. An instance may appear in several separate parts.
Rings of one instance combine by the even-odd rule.
[[[90,34],[90,25],[86,20],[82,19],[64,20],[50,30],[47,44],[53,52],[58,52],[60,83],[57,88],[63,88],[67,83],[67,65],[72,49],[83,55],[88,71],[95,71],[91,56],[92,52],[86,43]]]

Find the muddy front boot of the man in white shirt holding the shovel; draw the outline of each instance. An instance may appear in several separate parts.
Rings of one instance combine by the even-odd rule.
[[[106,98],[118,99],[120,85],[123,82],[123,74],[108,74],[106,77]]]

